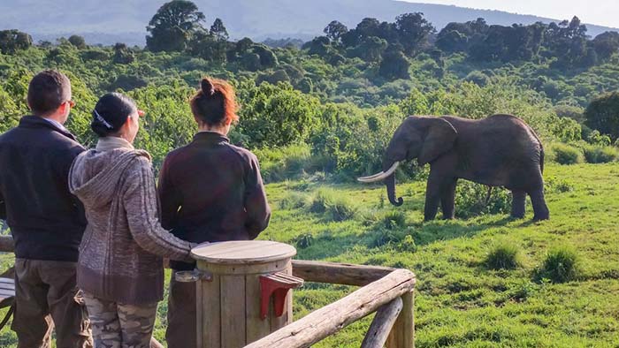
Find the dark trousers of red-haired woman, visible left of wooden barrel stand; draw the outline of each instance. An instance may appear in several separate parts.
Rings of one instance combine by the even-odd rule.
[[[168,328],[165,341],[169,348],[195,347],[195,283],[180,283],[170,279],[168,294]]]

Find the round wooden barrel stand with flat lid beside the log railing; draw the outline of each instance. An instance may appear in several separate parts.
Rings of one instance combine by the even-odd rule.
[[[293,246],[271,241],[196,246],[192,256],[203,272],[196,286],[197,346],[240,348],[291,323],[292,290],[285,295],[282,315],[275,313],[273,295],[266,318],[261,319],[261,277],[263,287],[289,280],[294,254]],[[281,276],[276,275],[279,272]]]

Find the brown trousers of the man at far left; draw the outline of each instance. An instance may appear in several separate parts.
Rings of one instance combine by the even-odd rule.
[[[77,297],[75,262],[15,260],[15,316],[19,348],[92,348],[88,312]]]

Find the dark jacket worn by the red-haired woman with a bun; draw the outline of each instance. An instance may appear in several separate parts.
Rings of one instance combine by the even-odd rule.
[[[271,217],[256,155],[217,132],[167,155],[158,190],[164,228],[194,243],[254,239]]]

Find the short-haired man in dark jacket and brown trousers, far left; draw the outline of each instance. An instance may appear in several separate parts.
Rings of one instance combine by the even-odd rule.
[[[34,116],[0,136],[0,216],[15,239],[16,311],[21,347],[92,347],[88,314],[75,284],[86,219],[69,193],[68,173],[84,148],[65,129],[74,103],[71,82],[56,71],[30,82]],[[51,325],[53,321],[54,325]]]

